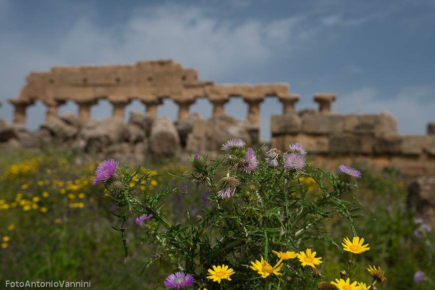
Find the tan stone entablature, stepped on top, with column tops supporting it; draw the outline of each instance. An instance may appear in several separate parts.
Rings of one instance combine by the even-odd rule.
[[[185,69],[172,60],[139,61],[135,65],[52,67],[49,72],[32,72],[17,99],[8,99],[15,106],[14,123],[25,124],[25,108],[34,100],[47,107],[45,120],[57,117],[58,106],[71,100],[79,105],[82,122],[90,119],[90,107],[98,99],[113,105],[113,116],[124,117],[124,107],[132,99],[146,106],[146,112],[157,117],[157,106],[170,98],[179,106],[178,119],[189,115],[189,106],[196,98],[213,103],[213,116],[224,115],[223,105],[230,96],[240,96],[248,103],[248,120],[259,127],[260,107],[266,96],[278,96],[285,110],[293,109],[299,99],[289,93],[287,83],[219,84],[198,80],[198,71]]]

